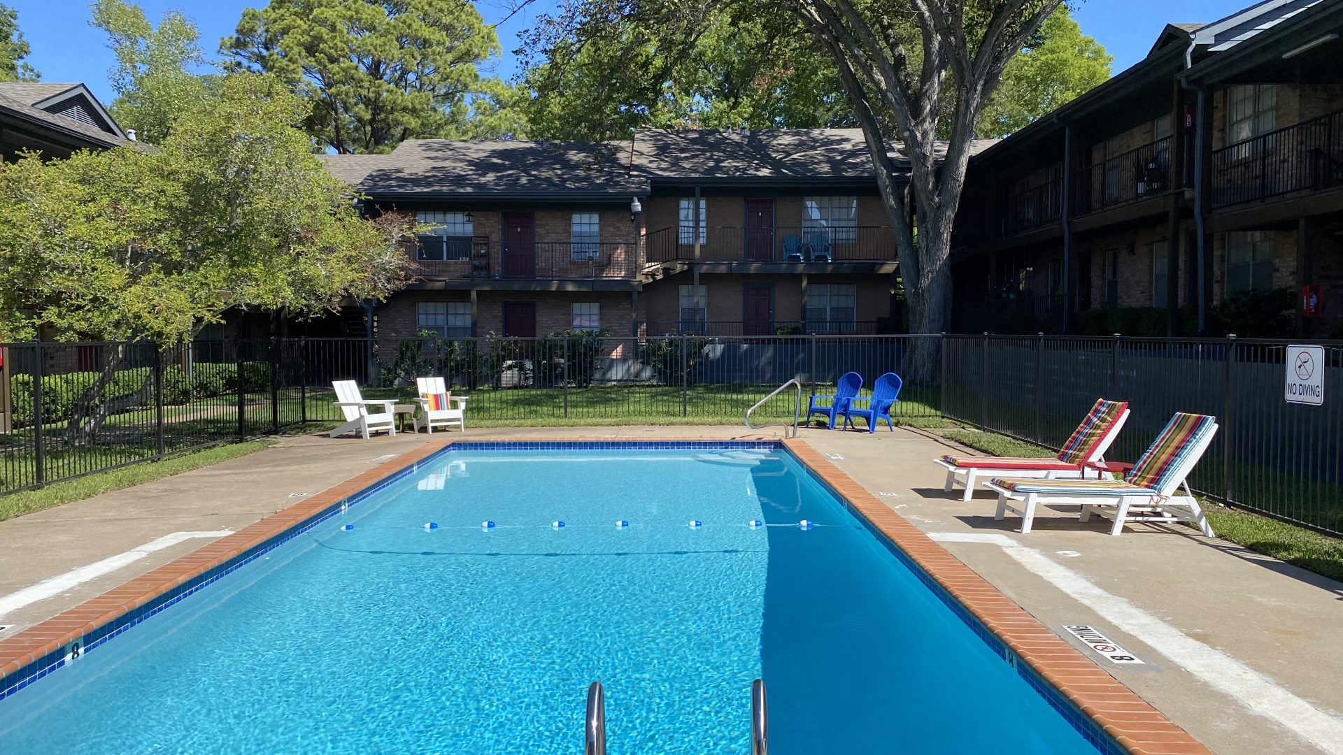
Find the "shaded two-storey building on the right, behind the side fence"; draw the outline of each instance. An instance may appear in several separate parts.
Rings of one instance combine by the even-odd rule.
[[[1296,332],[1336,332],[1340,26],[1317,0],[1170,24],[1142,62],[972,159],[954,326],[1209,333],[1237,292],[1291,289]]]

